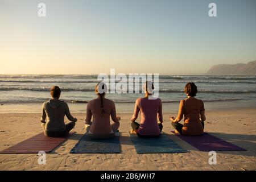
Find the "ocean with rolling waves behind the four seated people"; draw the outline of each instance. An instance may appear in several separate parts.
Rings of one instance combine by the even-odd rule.
[[[186,97],[183,90],[188,81],[195,82],[197,98],[208,106],[229,107],[230,104],[230,107],[234,107],[236,103],[245,106],[250,103],[248,107],[255,107],[256,76],[159,76],[159,98],[165,104],[178,105]],[[40,105],[51,97],[49,88],[57,85],[62,91],[61,100],[85,110],[85,103],[96,98],[94,88],[97,82],[97,75],[0,75],[0,104],[2,109],[8,105]],[[143,95],[109,93],[106,97],[118,105],[127,106],[133,105],[136,98]]]

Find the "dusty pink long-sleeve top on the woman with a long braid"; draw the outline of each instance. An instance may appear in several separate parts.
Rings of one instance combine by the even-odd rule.
[[[101,110],[101,100],[96,98],[87,104],[85,123],[90,123],[92,116],[93,122],[90,126],[90,132],[94,134],[108,134],[112,132],[110,125],[110,115],[114,122],[119,122],[115,111],[115,104],[107,98],[103,99],[103,109]]]

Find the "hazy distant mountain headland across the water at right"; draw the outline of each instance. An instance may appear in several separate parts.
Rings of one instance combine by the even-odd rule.
[[[212,66],[206,75],[256,75],[256,60],[247,64],[218,64]]]

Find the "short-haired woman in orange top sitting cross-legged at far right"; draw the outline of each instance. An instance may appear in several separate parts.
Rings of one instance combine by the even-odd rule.
[[[179,114],[177,118],[170,117],[172,126],[175,128],[175,133],[187,136],[202,135],[204,133],[204,102],[195,98],[197,86],[193,82],[188,82],[185,85],[184,92],[188,98],[180,101]],[[179,121],[184,115],[184,125]]]

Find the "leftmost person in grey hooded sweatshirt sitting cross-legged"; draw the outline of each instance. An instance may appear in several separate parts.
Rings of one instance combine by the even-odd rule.
[[[41,122],[44,135],[47,137],[63,137],[68,135],[69,131],[76,125],[77,119],[70,114],[68,104],[59,100],[60,92],[59,86],[53,86],[51,88],[52,99],[44,102],[42,105]],[[65,115],[71,122],[65,124]]]

